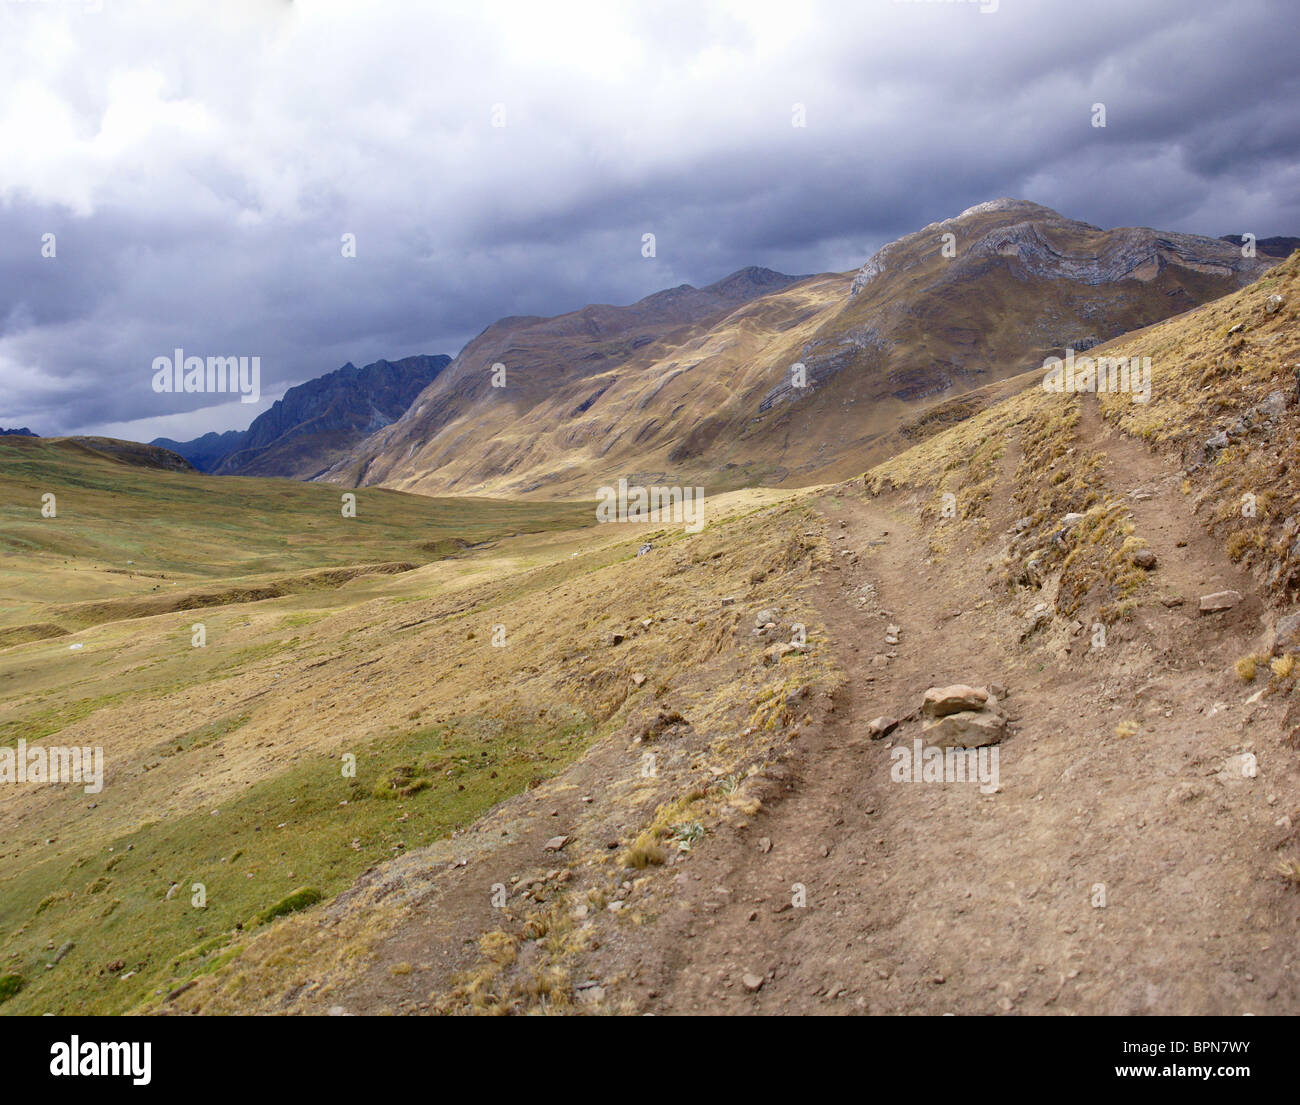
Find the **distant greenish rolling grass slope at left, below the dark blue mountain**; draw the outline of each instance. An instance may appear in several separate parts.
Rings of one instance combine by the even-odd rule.
[[[55,517],[42,516],[55,495]],[[0,439],[0,646],[98,621],[207,606],[222,581],[286,589],[283,577],[358,564],[422,564],[514,533],[592,523],[582,504],[432,499],[289,480],[157,471],[72,441]],[[255,588],[254,588],[255,589]],[[272,588],[274,589],[274,588]],[[218,589],[221,590],[221,589]],[[247,598],[247,595],[246,595]],[[78,604],[86,606],[78,608]],[[103,607],[103,603],[109,606]],[[96,606],[99,604],[99,606]]]

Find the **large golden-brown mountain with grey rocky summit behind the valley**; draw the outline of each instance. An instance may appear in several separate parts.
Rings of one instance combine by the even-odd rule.
[[[1217,238],[983,203],[855,273],[746,269],[632,307],[503,318],[322,478],[428,494],[592,495],[620,476],[801,485],[862,471],[930,407],[1240,289]],[[731,300],[728,303],[728,300]],[[491,365],[506,386],[491,386]],[[805,365],[806,387],[793,367]]]

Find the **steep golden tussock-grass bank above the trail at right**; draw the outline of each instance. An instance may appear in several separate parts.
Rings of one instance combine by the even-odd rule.
[[[1087,607],[1102,621],[1130,610],[1148,582],[1132,563],[1140,547],[1131,503],[1104,495],[1097,476],[1104,445],[1080,441],[1089,417],[1167,451],[1183,465],[1182,494],[1225,545],[1275,598],[1300,593],[1300,465],[1286,430],[1296,398],[1300,356],[1300,254],[1232,295],[1089,350],[1091,358],[1150,358],[1150,400],[1131,394],[1061,395],[1043,390],[1041,370],[1024,390],[866,474],[874,494],[916,493],[922,516],[935,523],[931,552],[970,551],[996,534],[994,523],[1019,521],[989,571],[1006,588],[1039,588],[1060,572],[1053,604],[1071,616]],[[1222,433],[1221,438],[1216,436]],[[1015,517],[989,514],[1000,473],[1014,484]],[[1140,484],[1143,472],[1130,478]],[[956,526],[944,526],[945,495]],[[1084,514],[1061,532],[1062,519]],[[965,525],[963,525],[965,524]],[[984,550],[985,555],[993,552]]]

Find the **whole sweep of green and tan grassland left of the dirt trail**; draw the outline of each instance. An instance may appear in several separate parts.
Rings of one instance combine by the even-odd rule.
[[[715,594],[738,563],[642,586],[682,534],[592,526],[589,506],[363,490],[344,520],[337,488],[39,441],[3,455],[6,616],[74,632],[0,649],[0,744],[105,759],[100,793],[5,788],[4,1013],[157,1000],[646,708],[715,647],[719,627],[668,628],[682,603],[738,616]],[[39,516],[47,490],[56,519]],[[656,552],[636,556],[647,538]],[[615,629],[629,640],[612,654]]]

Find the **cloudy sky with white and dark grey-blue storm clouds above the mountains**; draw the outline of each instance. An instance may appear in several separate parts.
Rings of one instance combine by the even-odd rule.
[[[1300,234],[1295,44],[1294,0],[0,0],[0,426],[242,429],[1002,195]],[[176,347],[260,356],[261,402],[155,393]]]

